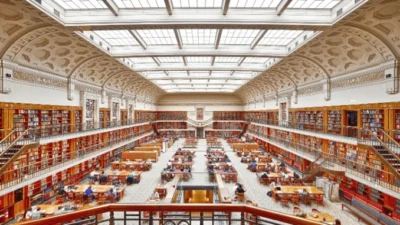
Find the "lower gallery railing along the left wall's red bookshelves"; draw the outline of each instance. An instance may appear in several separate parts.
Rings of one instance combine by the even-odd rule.
[[[106,148],[117,148],[123,142],[136,141],[137,139],[150,135],[151,133],[151,131],[146,131],[138,134],[131,134],[123,139],[91,145],[86,148],[77,149],[74,152],[63,152],[62,155],[56,154],[54,158],[41,159],[39,162],[36,161],[38,158],[32,157],[29,159],[29,165],[21,166],[19,168],[8,170],[2,173],[0,175],[0,189],[14,186],[28,179],[54,171],[57,168],[71,165],[72,163],[79,161],[96,151]]]

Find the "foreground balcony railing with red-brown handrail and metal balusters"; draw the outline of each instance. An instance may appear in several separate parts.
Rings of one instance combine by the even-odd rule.
[[[102,214],[101,217],[98,215]],[[211,215],[210,215],[211,214]],[[207,216],[206,216],[207,215]],[[40,220],[22,222],[21,225],[68,223],[78,224],[240,224],[240,225],[322,225],[281,212],[235,204],[109,204]],[[325,223],[327,224],[327,223]],[[333,224],[333,223],[331,223]]]

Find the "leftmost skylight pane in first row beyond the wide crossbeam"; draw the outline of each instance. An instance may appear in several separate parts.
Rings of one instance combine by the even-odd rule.
[[[93,32],[111,46],[138,45],[132,34],[127,30],[98,30]]]

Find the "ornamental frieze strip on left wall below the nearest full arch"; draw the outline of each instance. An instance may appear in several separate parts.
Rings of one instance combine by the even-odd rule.
[[[14,71],[13,73],[15,80],[21,80],[28,82],[30,84],[43,85],[48,87],[56,87],[56,88],[67,88],[67,83],[63,80],[57,78],[48,78],[41,76],[34,76],[32,74],[24,73],[21,71]]]

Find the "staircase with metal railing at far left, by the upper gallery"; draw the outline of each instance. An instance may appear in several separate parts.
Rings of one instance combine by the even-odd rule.
[[[39,142],[29,136],[29,130],[23,132],[14,130],[0,142],[0,146],[0,174],[2,174],[25,150],[39,147]]]

